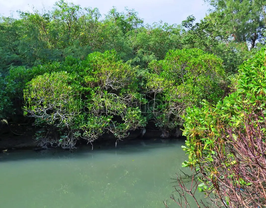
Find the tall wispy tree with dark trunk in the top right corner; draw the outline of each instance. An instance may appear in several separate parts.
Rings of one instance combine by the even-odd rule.
[[[237,42],[247,42],[254,48],[263,37],[266,27],[266,0],[205,0],[214,7],[210,10],[210,19],[221,12],[230,20],[228,32]]]

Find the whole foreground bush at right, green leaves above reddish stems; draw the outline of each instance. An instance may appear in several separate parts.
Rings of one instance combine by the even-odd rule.
[[[210,105],[186,110],[183,149],[218,207],[264,207],[266,49],[239,68],[232,94]]]

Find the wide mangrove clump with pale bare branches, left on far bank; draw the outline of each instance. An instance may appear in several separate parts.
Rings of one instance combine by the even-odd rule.
[[[38,135],[41,145],[72,148],[78,138],[92,143],[104,132],[121,139],[145,125],[137,107],[136,72],[115,51],[94,52],[82,61],[68,57],[55,65],[47,64],[54,72],[35,77],[24,90],[25,114],[49,130]],[[51,139],[55,132],[61,137]]]

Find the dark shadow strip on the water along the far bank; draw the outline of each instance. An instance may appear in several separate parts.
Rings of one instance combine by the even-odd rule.
[[[60,148],[43,149],[40,151],[35,150],[9,150],[7,152],[0,153],[0,163],[9,161],[29,160],[29,159],[80,159],[88,157],[97,157],[101,154],[108,155],[128,155],[132,153],[147,153],[160,148],[178,147],[181,149],[181,145],[184,145],[185,139],[173,139],[173,140],[132,140],[132,141],[118,141],[117,147],[115,143],[99,145],[81,145],[72,151],[64,150]]]

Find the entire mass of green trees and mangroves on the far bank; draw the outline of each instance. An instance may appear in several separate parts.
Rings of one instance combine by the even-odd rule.
[[[101,18],[97,8],[64,0],[48,12],[1,17],[1,118],[24,106],[37,125],[50,129],[39,135],[44,146],[72,148],[77,138],[92,142],[104,132],[123,138],[150,119],[168,136],[182,125],[186,108],[202,99],[217,102],[228,84],[232,92],[239,89],[239,77],[232,74],[263,45],[263,1],[253,1],[252,8],[249,1],[210,3],[219,11],[196,24],[189,16],[182,25],[143,25],[128,8],[112,8]],[[250,14],[242,18],[247,11],[256,19],[242,28],[251,20]],[[233,31],[235,24],[239,28]],[[249,51],[246,41],[233,40],[230,34],[246,41],[255,38],[261,45]],[[78,99],[81,110],[72,106]],[[62,138],[51,140],[53,132]]]

